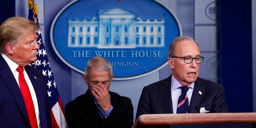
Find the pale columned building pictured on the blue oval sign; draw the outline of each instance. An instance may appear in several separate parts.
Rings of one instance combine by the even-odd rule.
[[[164,47],[164,20],[135,18],[120,6],[99,10],[98,18],[68,19],[68,47]]]

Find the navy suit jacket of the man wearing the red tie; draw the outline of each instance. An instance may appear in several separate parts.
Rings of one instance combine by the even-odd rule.
[[[46,81],[42,73],[32,66],[25,70],[36,92],[41,128],[51,128],[50,106]],[[36,77],[36,78],[35,78]],[[0,55],[0,127],[30,128],[22,93],[8,64]]]

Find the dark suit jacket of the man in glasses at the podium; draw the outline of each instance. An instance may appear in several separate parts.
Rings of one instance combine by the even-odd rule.
[[[144,87],[136,119],[142,114],[173,114],[171,96],[171,76]],[[228,112],[224,88],[216,82],[198,77],[190,100],[191,113],[198,113],[196,106],[205,107],[211,113]]]

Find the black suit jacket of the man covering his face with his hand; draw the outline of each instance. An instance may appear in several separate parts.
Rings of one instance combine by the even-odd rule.
[[[101,119],[96,105],[87,92],[65,107],[69,128],[130,128],[133,124],[133,107],[130,98],[109,92],[113,109],[107,119]]]

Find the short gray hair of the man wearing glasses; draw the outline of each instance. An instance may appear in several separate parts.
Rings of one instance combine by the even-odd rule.
[[[178,44],[178,42],[181,42],[183,40],[190,40],[190,41],[195,42],[192,38],[190,38],[188,36],[179,36],[179,37],[175,38],[174,40],[172,40],[172,43],[169,46],[168,57],[172,58],[172,56],[175,56],[174,54],[175,54],[176,45]],[[198,46],[197,43],[196,43],[196,45]],[[198,46],[198,48],[199,48],[199,46]],[[199,48],[199,50],[200,50],[200,48]]]

